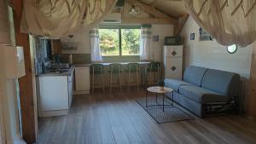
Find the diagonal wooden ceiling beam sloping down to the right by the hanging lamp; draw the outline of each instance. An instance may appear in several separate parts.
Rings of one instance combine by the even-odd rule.
[[[173,18],[172,16],[169,16],[167,14],[160,12],[159,10],[155,9],[154,6],[147,5],[147,4],[139,2],[137,0],[126,0],[126,2],[131,5],[135,4],[135,3],[139,3],[140,5],[143,6],[144,11],[147,12],[148,14],[152,14],[156,18],[167,18],[167,19],[172,20],[173,23],[177,23],[176,18]]]

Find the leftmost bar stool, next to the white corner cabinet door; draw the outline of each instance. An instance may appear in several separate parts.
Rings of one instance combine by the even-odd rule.
[[[90,73],[92,74],[92,82],[91,82],[91,87],[92,87],[92,93],[94,93],[95,88],[102,88],[103,92],[105,92],[105,86],[104,86],[104,79],[103,79],[103,65],[102,64],[92,64],[90,66]],[[102,84],[101,85],[95,85],[95,75],[101,75],[102,78]]]

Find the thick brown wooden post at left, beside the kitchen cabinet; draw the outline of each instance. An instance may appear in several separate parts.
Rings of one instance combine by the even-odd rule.
[[[38,116],[35,97],[35,76],[29,35],[20,32],[22,0],[12,1],[14,7],[16,45],[23,46],[26,76],[19,78],[22,134],[26,143],[35,143],[38,133]]]

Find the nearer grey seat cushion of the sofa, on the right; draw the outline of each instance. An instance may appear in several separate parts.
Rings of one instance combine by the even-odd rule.
[[[229,97],[221,95],[212,90],[203,89],[198,86],[183,85],[179,89],[179,93],[199,103],[208,103],[208,102],[226,102],[229,101]]]

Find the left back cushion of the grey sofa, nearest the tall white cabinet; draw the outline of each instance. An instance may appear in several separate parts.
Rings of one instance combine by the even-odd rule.
[[[205,67],[189,66],[186,68],[183,76],[183,80],[190,84],[201,86],[201,80],[207,71]]]

